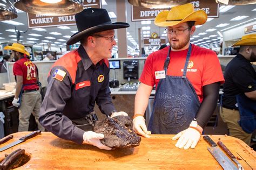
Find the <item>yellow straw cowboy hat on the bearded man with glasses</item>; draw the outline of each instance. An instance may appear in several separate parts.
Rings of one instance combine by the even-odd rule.
[[[195,25],[202,25],[207,20],[207,14],[204,10],[194,11],[191,3],[173,6],[170,11],[161,11],[158,13],[154,24],[161,27],[173,26],[180,23],[194,21]]]

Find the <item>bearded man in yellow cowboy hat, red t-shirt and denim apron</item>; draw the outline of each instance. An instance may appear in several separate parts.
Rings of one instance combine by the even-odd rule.
[[[156,85],[149,131],[176,134],[176,147],[196,147],[212,116],[224,82],[217,55],[210,49],[190,44],[196,26],[206,22],[203,10],[191,3],[160,12],[154,23],[166,27],[167,46],[148,56],[135,97],[133,129],[149,137],[144,112]],[[178,134],[177,134],[178,133]]]

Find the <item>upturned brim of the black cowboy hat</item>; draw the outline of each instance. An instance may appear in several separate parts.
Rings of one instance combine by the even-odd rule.
[[[102,31],[107,31],[107,30],[123,29],[123,28],[129,27],[129,26],[130,26],[130,24],[122,23],[122,22],[93,26],[90,29],[73,34],[71,36],[71,38],[66,42],[66,45],[75,44],[76,42],[78,42],[80,39],[82,39],[86,35],[91,35],[96,32],[102,32]]]

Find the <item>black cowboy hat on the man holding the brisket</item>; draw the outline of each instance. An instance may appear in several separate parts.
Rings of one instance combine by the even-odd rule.
[[[76,24],[78,32],[73,34],[66,42],[67,45],[75,44],[84,36],[89,36],[96,32],[122,29],[129,27],[128,23],[112,23],[109,13],[105,9],[87,8],[76,14]]]

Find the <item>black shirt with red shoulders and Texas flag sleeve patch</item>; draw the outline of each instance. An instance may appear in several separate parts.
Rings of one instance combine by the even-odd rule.
[[[71,119],[85,117],[93,111],[95,102],[105,115],[115,110],[110,97],[108,61],[94,65],[83,46],[55,62],[48,82],[39,121],[60,138],[83,143],[84,131]]]

